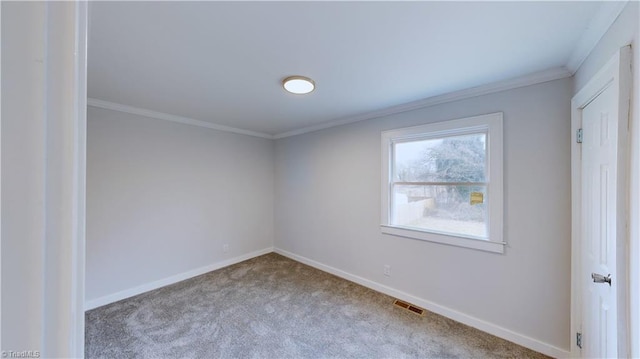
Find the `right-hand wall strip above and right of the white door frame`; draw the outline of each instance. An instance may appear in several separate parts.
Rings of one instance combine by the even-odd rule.
[[[631,1],[618,19],[600,39],[589,57],[574,77],[574,94],[600,70],[620,47],[632,45],[633,89],[631,101],[631,193],[630,193],[630,253],[631,253],[631,304],[632,338],[631,357],[640,357],[640,43],[638,30],[640,3]]]

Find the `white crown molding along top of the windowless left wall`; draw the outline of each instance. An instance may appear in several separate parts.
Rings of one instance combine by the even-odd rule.
[[[181,123],[184,125],[205,127],[205,128],[210,128],[212,130],[218,130],[223,132],[230,132],[230,133],[260,137],[260,138],[267,138],[270,140],[273,139],[272,135],[262,133],[262,132],[255,132],[255,131],[243,130],[240,128],[235,128],[230,126],[218,125],[211,122],[194,120],[188,117],[170,115],[168,113],[157,112],[157,111],[147,110],[144,108],[128,106],[128,105],[122,105],[119,103],[98,100],[95,98],[89,98],[87,100],[87,106],[97,107],[97,108],[102,108],[102,109],[112,110],[112,111],[118,111],[118,112],[124,112],[132,115],[154,118],[157,120],[171,121],[171,122]]]

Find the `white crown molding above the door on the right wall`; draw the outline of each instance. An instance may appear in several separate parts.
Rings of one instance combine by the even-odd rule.
[[[618,16],[620,16],[627,2],[628,0],[602,2],[569,56],[567,68],[571,71],[572,75],[578,71],[602,36],[609,30]]]

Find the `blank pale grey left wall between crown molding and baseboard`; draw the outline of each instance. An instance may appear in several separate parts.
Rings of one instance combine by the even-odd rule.
[[[273,246],[273,141],[93,107],[88,122],[87,301]]]

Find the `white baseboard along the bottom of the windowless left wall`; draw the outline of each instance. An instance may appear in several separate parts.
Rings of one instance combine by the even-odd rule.
[[[160,279],[157,280],[155,282],[151,282],[151,283],[146,283],[134,288],[130,288],[130,289],[125,289],[123,291],[117,292],[117,293],[113,293],[113,294],[109,294],[109,295],[105,295],[103,297],[100,298],[96,298],[96,299],[92,299],[89,301],[86,301],[84,304],[84,310],[91,310],[91,309],[95,309],[98,307],[101,307],[103,305],[107,305],[107,304],[111,304],[111,303],[115,303],[119,300],[122,299],[126,299],[126,298],[130,298],[133,297],[135,295],[138,294],[142,294],[154,289],[158,289],[170,284],[174,284],[180,281],[183,281],[185,279],[189,279],[189,278],[193,278],[196,276],[199,276],[201,274],[205,274],[220,268],[224,268],[224,267],[228,267],[232,264],[236,264],[236,263],[240,263],[243,261],[246,261],[247,259],[251,259],[251,258],[255,258],[258,256],[261,256],[263,254],[267,254],[267,253],[271,253],[273,252],[273,247],[269,247],[269,248],[265,248],[265,249],[261,249],[259,251],[255,251],[255,252],[251,252],[251,253],[247,253],[247,254],[243,254],[241,256],[235,257],[235,258],[231,258],[231,259],[226,259],[223,260],[221,262],[217,262],[217,263],[213,263],[204,267],[200,267],[200,268],[196,268],[187,272],[183,272],[183,273],[179,273],[176,275],[172,275],[171,277],[167,277],[164,279]]]

